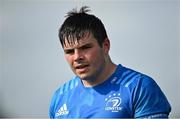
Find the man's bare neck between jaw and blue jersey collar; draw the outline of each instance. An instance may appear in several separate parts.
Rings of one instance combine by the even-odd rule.
[[[107,63],[104,66],[103,71],[100,73],[98,77],[94,77],[93,80],[82,80],[82,83],[85,87],[93,87],[102,82],[106,81],[116,70],[117,65],[115,65],[112,61]]]

